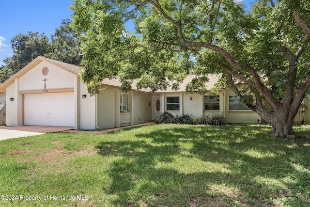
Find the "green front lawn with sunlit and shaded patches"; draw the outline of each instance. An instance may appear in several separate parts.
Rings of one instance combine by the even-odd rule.
[[[294,130],[310,135],[310,126]],[[17,200],[0,206],[310,206],[309,139],[273,138],[270,131],[152,125],[4,140],[0,195]]]

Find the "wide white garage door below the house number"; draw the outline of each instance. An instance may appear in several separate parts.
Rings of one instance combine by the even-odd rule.
[[[24,97],[24,125],[74,127],[74,93]]]

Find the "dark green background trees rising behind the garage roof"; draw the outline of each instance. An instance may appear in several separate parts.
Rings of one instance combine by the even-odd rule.
[[[60,28],[48,37],[38,32],[19,33],[11,40],[13,56],[3,60],[0,82],[7,80],[38,56],[44,56],[69,64],[80,64],[82,33],[70,27],[71,20],[64,19]]]

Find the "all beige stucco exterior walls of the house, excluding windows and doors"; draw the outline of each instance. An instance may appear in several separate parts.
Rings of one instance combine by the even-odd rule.
[[[48,82],[46,89],[74,88],[75,97],[75,128],[76,129],[107,129],[126,125],[135,125],[152,120],[153,116],[153,96],[160,97],[160,112],[166,110],[166,100],[168,96],[180,97],[180,110],[168,111],[175,115],[192,115],[199,117],[202,115],[225,112],[228,123],[257,123],[260,116],[252,111],[230,111],[229,95],[234,95],[232,91],[220,91],[220,110],[204,111],[204,95],[186,94],[184,92],[172,93],[144,93],[130,91],[128,93],[128,111],[120,111],[121,90],[113,86],[101,86],[100,93],[90,96],[86,85],[80,78],[65,69],[54,64],[43,61],[35,65],[29,72],[19,79],[16,79],[6,89],[6,123],[7,126],[18,126],[23,124],[23,95],[19,90],[43,90],[44,82],[41,73],[43,67],[47,67]],[[25,93],[25,92],[23,92]],[[37,92],[35,92],[37,93]],[[43,93],[43,92],[39,92]],[[85,94],[86,98],[82,98]],[[207,94],[205,94],[207,95]],[[10,101],[10,98],[14,101]],[[150,103],[150,104],[149,104]]]

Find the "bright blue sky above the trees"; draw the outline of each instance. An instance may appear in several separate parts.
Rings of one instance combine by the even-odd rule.
[[[253,0],[243,1],[246,5]],[[48,38],[59,28],[62,19],[70,18],[72,0],[0,0],[0,65],[11,57],[10,40],[17,34],[45,33]]]

